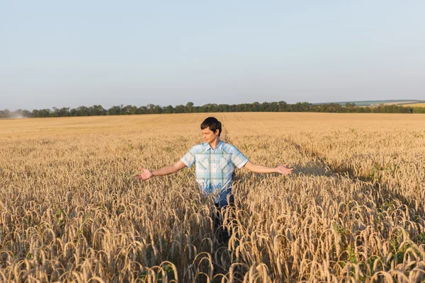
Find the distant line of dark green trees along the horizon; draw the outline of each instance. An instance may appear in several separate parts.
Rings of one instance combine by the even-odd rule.
[[[423,107],[404,107],[400,105],[356,106],[355,103],[312,104],[295,103],[288,104],[285,101],[243,104],[206,104],[194,106],[189,102],[186,105],[159,106],[148,104],[147,106],[120,105],[106,110],[101,105],[79,108],[52,108],[40,110],[0,110],[0,118],[13,117],[75,117],[75,116],[101,116],[101,115],[144,115],[165,113],[205,113],[205,112],[332,112],[332,113],[425,113]]]

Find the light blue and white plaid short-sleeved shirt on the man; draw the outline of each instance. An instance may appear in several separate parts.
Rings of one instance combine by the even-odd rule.
[[[193,146],[181,161],[188,168],[196,163],[196,182],[205,195],[216,194],[232,187],[232,173],[234,166],[242,168],[249,161],[244,154],[232,146],[220,141],[215,149],[204,142]]]

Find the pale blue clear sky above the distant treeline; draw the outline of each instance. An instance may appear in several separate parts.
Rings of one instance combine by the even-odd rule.
[[[425,100],[425,1],[0,0],[0,110]]]

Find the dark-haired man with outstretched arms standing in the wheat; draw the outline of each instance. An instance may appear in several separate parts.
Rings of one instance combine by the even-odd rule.
[[[137,176],[139,180],[148,180],[153,176],[168,175],[187,167],[191,168],[196,164],[196,181],[200,185],[204,195],[215,195],[215,205],[220,210],[229,203],[234,202],[232,194],[232,173],[234,166],[237,168],[245,167],[255,173],[280,173],[288,175],[292,173],[293,168],[287,168],[288,164],[277,167],[267,167],[249,161],[236,146],[226,144],[220,140],[222,132],[221,122],[215,117],[208,117],[200,125],[202,130],[203,144],[193,146],[176,163],[150,171],[141,168],[142,173]],[[216,226],[221,225],[219,219],[215,219]],[[216,227],[217,228],[217,227]],[[222,231],[222,241],[227,241],[229,235]]]

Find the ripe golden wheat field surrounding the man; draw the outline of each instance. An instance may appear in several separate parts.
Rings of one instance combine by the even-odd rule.
[[[295,168],[237,169],[225,244],[194,168],[135,178],[202,142],[208,116],[254,163]],[[0,282],[425,280],[425,115],[40,118],[0,133]]]

